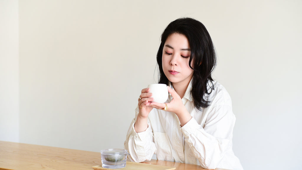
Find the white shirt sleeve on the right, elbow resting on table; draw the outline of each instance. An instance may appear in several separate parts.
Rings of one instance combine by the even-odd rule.
[[[181,130],[200,165],[215,169],[231,149],[236,118],[232,107],[226,104],[210,106],[204,113],[207,114],[204,127],[192,118]]]

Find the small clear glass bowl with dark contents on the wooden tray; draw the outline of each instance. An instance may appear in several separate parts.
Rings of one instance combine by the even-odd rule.
[[[104,149],[101,150],[103,168],[124,168],[127,161],[126,149]]]

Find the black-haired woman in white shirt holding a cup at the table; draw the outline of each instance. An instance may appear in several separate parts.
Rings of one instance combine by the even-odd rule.
[[[157,53],[159,83],[171,94],[152,102],[141,91],[125,149],[135,162],[158,160],[204,168],[243,169],[232,150],[235,116],[226,89],[211,77],[214,45],[204,25],[192,18],[172,21],[161,36]]]

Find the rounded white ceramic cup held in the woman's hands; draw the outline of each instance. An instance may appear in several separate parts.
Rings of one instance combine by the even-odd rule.
[[[150,93],[152,93],[152,98],[154,100],[152,102],[156,103],[164,103],[167,101],[169,93],[167,85],[165,84],[151,84],[148,85],[148,88],[150,88]]]

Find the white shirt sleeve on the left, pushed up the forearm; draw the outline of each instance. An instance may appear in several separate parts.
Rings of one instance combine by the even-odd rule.
[[[138,107],[135,111],[136,116],[132,120],[127,132],[124,148],[128,150],[128,153],[130,154],[128,158],[132,162],[143,162],[145,160],[149,161],[156,152],[156,147],[153,140],[153,130],[148,119],[148,128],[146,131],[140,133],[135,132],[134,123],[138,115]]]

